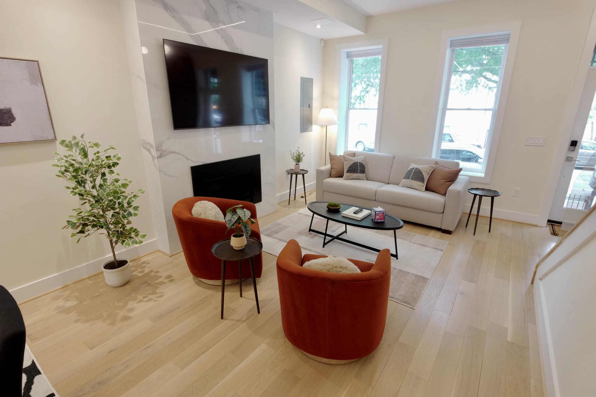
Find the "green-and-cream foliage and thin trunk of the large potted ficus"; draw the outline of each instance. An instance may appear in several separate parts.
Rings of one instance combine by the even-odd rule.
[[[129,247],[141,244],[147,238],[146,234],[131,226],[131,218],[137,216],[139,210],[134,203],[145,192],[142,189],[126,191],[132,181],[121,179],[115,171],[122,158],[118,153],[111,154],[116,150],[113,146],[99,150],[101,145],[85,141],[85,134],[79,138],[73,135],[70,140],[63,139],[60,145],[68,153],[55,151],[58,157],[52,166],[59,168],[56,176],[69,182],[65,188],[72,196],[79,197],[81,206],[73,209],[75,215],[69,215],[63,229],[76,230],[70,237],[78,237],[77,243],[97,231],[105,235],[110,241],[116,265],[117,244]]]

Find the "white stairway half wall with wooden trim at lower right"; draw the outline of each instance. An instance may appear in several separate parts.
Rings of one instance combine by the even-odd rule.
[[[536,272],[534,293],[545,396],[593,396],[596,368],[596,210]]]

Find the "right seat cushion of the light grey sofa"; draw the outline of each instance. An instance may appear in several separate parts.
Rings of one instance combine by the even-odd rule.
[[[396,206],[442,213],[445,196],[432,191],[420,191],[398,185],[385,185],[377,190],[377,201]]]

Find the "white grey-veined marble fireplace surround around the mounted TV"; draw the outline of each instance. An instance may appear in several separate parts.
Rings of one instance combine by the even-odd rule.
[[[190,166],[260,154],[262,201],[256,204],[257,213],[260,217],[275,210],[273,17],[234,0],[134,0],[134,5],[140,45],[148,50],[142,54],[142,70],[135,68],[131,60],[139,129],[148,179],[153,176],[156,197],[151,203],[158,206],[153,215],[157,218],[154,221],[159,246],[173,254],[181,250],[181,245],[172,206],[181,198],[193,196]],[[189,34],[209,29],[215,30]],[[174,131],[162,39],[268,58],[270,124]],[[134,51],[134,46],[129,45],[129,52],[131,49]],[[136,51],[134,56],[138,57],[140,51]],[[141,89],[146,89],[146,100]],[[148,112],[139,108],[144,102],[148,102]],[[141,118],[147,113],[150,123],[143,128]]]

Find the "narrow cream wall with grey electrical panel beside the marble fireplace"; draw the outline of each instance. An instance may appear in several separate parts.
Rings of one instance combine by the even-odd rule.
[[[322,55],[320,39],[274,24],[275,184],[278,201],[288,197],[290,176],[285,170],[294,167],[290,150],[300,147],[305,154],[300,168],[309,170],[305,175],[306,191],[315,188],[316,168],[322,166],[325,160],[325,127],[313,124],[311,132],[300,132],[300,77],[313,79],[313,123],[324,107],[321,103]],[[331,147],[327,149],[333,153]],[[302,192],[302,178],[298,181],[297,191]]]

